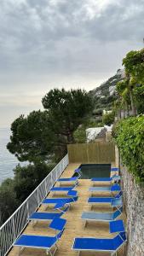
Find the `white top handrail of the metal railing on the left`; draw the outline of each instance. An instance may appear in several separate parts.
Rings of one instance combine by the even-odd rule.
[[[68,156],[68,154],[66,154],[62,160],[64,160],[67,156]],[[60,160],[60,162],[61,162],[62,160]],[[60,162],[59,162],[56,166],[59,166]],[[52,170],[51,172],[53,172],[53,171],[55,170],[56,166],[53,168],[53,170]],[[13,214],[3,223],[3,225],[0,227],[0,230],[3,229],[3,226],[4,226],[5,224],[7,224],[11,218],[14,217],[15,213],[20,210],[20,208],[21,208],[21,207],[26,203],[26,201],[28,201],[28,199],[35,193],[35,191],[40,187],[40,185],[51,175],[51,172],[49,172],[49,174],[48,174],[46,177],[43,178],[43,181],[42,181],[41,183],[39,183],[39,185],[37,186],[37,188],[32,191],[32,193],[26,198],[26,200],[22,202],[22,204],[20,205],[20,207],[18,207],[18,208],[15,210],[15,212],[13,212]]]

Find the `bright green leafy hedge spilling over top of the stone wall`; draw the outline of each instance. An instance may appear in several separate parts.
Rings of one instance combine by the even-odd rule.
[[[120,120],[114,127],[112,135],[125,166],[135,180],[144,183],[144,116]]]

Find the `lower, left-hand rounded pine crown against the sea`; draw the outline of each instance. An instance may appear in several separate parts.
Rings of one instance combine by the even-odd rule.
[[[43,162],[48,159],[55,144],[51,128],[46,111],[33,111],[27,117],[20,115],[11,125],[12,136],[7,148],[20,161]]]

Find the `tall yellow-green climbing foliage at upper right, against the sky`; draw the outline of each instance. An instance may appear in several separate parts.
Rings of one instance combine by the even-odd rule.
[[[130,51],[123,60],[125,79],[117,84],[117,112],[130,109],[132,115],[144,113],[144,49]]]

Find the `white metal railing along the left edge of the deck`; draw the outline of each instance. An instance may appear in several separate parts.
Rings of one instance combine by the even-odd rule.
[[[6,255],[13,246],[14,241],[26,228],[28,218],[41,205],[49,190],[54,186],[60,174],[68,165],[68,154],[60,160],[60,163],[45,177],[37,188],[26,198],[20,207],[0,227],[0,255]]]

